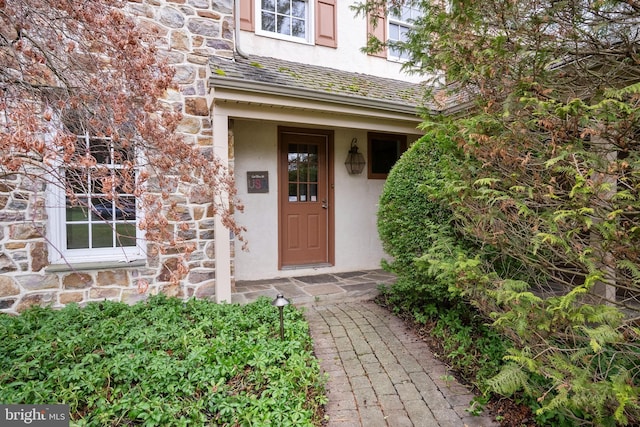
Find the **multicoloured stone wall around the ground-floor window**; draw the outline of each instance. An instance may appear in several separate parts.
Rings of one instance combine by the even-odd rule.
[[[208,62],[212,55],[233,54],[233,1],[133,0],[129,10],[141,25],[157,32],[162,55],[176,68],[179,90],[166,98],[184,114],[178,130],[188,142],[212,152]],[[150,256],[127,268],[48,265],[43,190],[42,184],[19,176],[0,181],[1,312],[104,299],[133,303],[158,292],[203,298],[215,294],[214,217],[208,200],[173,195],[180,201],[180,219],[190,226],[182,237],[194,241],[197,250],[188,260],[188,276],[172,285],[169,271],[178,262],[176,254]]]

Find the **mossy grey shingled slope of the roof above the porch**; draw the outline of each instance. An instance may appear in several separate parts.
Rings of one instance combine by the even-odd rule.
[[[212,57],[210,86],[418,114],[423,84],[247,55]]]

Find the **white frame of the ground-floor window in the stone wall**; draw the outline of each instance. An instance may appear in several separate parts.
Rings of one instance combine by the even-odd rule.
[[[90,135],[79,135],[79,138],[89,138]],[[140,159],[136,159],[139,161]],[[132,262],[145,259],[144,248],[146,241],[139,224],[142,212],[136,201],[136,245],[114,248],[67,248],[67,207],[64,183],[56,183],[64,177],[65,166],[62,162],[56,165],[58,176],[52,177],[45,192],[45,203],[48,215],[47,239],[49,245],[49,262],[57,264],[85,264],[108,262]],[[62,178],[64,179],[64,178]]]

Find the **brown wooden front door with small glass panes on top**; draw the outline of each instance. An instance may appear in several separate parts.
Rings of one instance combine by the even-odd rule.
[[[331,264],[333,133],[279,128],[279,264]]]

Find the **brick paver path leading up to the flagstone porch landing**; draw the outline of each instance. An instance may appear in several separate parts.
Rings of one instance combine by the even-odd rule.
[[[305,316],[329,375],[327,427],[498,425],[465,411],[473,394],[402,320],[375,303],[307,306]]]

